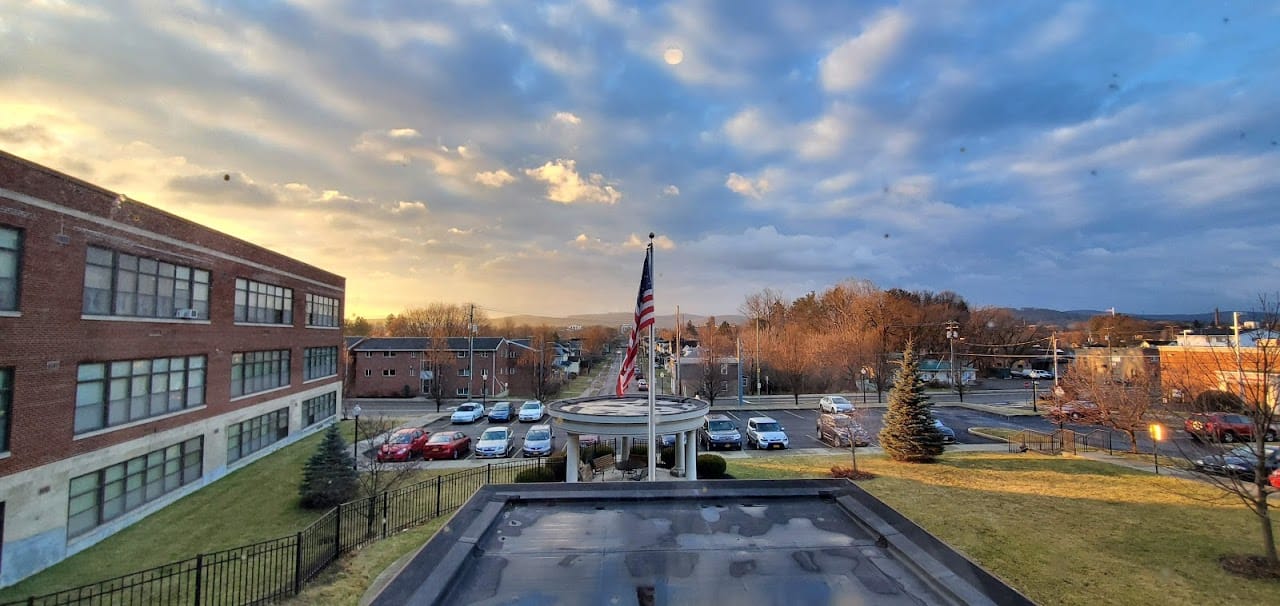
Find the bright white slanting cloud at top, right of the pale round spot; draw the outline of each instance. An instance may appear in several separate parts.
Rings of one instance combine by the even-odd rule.
[[[911,19],[900,10],[883,10],[863,32],[837,46],[819,64],[822,86],[828,92],[846,92],[860,87],[879,73],[897,54]]]

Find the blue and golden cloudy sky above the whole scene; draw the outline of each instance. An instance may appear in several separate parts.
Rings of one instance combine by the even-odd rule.
[[[346,275],[348,315],[628,310],[649,232],[662,313],[1280,288],[1277,3],[3,4],[0,149]]]

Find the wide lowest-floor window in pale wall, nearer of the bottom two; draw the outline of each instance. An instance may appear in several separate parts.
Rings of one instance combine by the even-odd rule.
[[[84,534],[200,479],[205,438],[191,438],[72,478],[67,534]]]

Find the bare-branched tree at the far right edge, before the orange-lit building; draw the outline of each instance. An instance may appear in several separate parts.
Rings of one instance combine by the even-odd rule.
[[[1267,445],[1266,437],[1275,432],[1280,422],[1276,413],[1277,383],[1280,383],[1280,293],[1260,295],[1258,306],[1245,314],[1251,331],[1235,336],[1230,346],[1196,346],[1190,338],[1179,338],[1179,345],[1167,346],[1162,356],[1162,373],[1178,389],[1185,389],[1193,402],[1210,402],[1213,398],[1194,397],[1207,392],[1228,392],[1243,402],[1240,415],[1248,420],[1251,439],[1243,445],[1225,445],[1213,439],[1213,434],[1202,436],[1203,445],[1198,448],[1183,447],[1181,455],[1188,461],[1211,460],[1216,457],[1225,463],[1230,454],[1245,463],[1247,470],[1225,469],[1226,475],[1208,474],[1207,468],[1190,465],[1201,471],[1202,479],[1213,484],[1224,495],[1239,500],[1257,516],[1261,530],[1263,565],[1272,570],[1280,569],[1276,552],[1276,538],[1267,502]],[[1236,324],[1236,329],[1240,327]],[[1194,406],[1194,405],[1193,405]],[[1194,413],[1194,410],[1193,410]],[[1207,413],[1201,410],[1199,413]],[[1229,557],[1224,562],[1249,560],[1257,556]]]

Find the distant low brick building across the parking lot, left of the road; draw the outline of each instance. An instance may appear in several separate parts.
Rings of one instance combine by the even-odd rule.
[[[503,337],[371,337],[348,347],[351,397],[502,397],[531,391],[539,350],[530,340]],[[552,360],[547,350],[547,363]],[[439,382],[439,384],[434,384]]]

